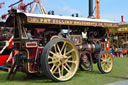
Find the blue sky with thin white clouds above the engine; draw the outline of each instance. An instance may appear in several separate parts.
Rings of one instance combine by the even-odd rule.
[[[0,15],[6,14],[8,6],[18,0],[0,0],[5,5],[0,9]],[[24,0],[24,3],[33,0]],[[73,13],[79,13],[80,16],[88,17],[88,0],[41,0],[46,11],[54,10],[55,14],[70,16]],[[102,19],[114,20],[120,22],[121,16],[128,21],[128,0],[100,0],[100,14]],[[94,0],[95,7],[95,0]],[[36,12],[41,13],[39,6]],[[95,13],[94,13],[95,15]]]

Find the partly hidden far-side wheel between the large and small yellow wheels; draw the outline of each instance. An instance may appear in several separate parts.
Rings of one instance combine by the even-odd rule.
[[[83,71],[89,71],[91,68],[91,62],[89,59],[89,55],[86,53],[80,54],[81,59],[80,59],[80,69]]]

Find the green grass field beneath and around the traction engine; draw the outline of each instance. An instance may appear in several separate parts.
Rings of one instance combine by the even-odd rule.
[[[76,76],[67,82],[53,82],[46,77],[19,80],[25,74],[18,72],[13,81],[6,80],[8,73],[0,71],[0,85],[104,85],[107,83],[128,80],[128,58],[114,58],[114,67],[111,73],[101,74],[94,65],[94,72],[78,71]]]

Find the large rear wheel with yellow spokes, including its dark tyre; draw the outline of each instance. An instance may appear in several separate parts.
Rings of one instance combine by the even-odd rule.
[[[79,55],[74,44],[63,38],[51,40],[43,49],[41,66],[54,81],[70,80],[79,67]]]

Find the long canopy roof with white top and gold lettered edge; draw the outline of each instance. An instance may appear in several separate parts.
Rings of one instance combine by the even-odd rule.
[[[30,13],[24,13],[24,14],[27,17],[27,23],[118,27],[117,22],[102,20],[102,19],[90,19],[83,17],[45,15],[45,14],[30,14]]]

